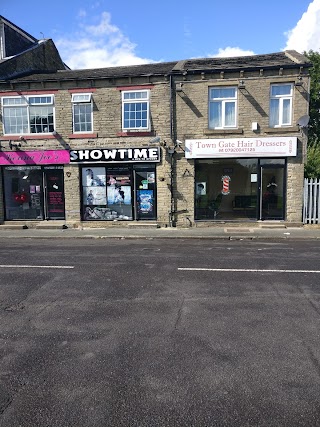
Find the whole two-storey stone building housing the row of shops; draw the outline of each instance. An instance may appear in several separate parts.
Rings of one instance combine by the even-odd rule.
[[[304,56],[72,71],[10,25],[31,45],[0,61],[2,224],[301,222]]]

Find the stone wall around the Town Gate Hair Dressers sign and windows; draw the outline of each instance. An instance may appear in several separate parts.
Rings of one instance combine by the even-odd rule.
[[[303,75],[302,86],[294,87],[293,122],[288,128],[269,128],[270,84],[294,83],[299,70],[255,71],[240,75],[224,73],[223,79],[216,75],[192,75],[182,83],[182,91],[176,95],[177,138],[253,138],[293,136],[298,138],[297,157],[288,157],[288,182],[286,197],[286,220],[301,222],[303,172],[306,134],[296,125],[298,118],[308,113],[308,75]],[[281,74],[281,75],[279,75]],[[238,90],[238,127],[234,130],[208,129],[208,92],[212,86],[238,86],[239,80],[245,83],[244,89]],[[258,131],[252,131],[252,122],[258,123]],[[185,171],[190,172],[187,175]],[[177,224],[189,225],[194,222],[194,162],[177,156]]]

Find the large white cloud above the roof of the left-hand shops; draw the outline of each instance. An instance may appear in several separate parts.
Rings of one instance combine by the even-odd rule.
[[[80,18],[86,15],[79,14]],[[63,61],[71,69],[116,67],[154,62],[136,55],[136,45],[111,24],[111,15],[103,12],[97,25],[82,22],[80,31],[55,41]]]

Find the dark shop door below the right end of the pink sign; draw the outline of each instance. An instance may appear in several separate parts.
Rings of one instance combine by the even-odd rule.
[[[65,219],[63,169],[45,168],[43,181],[45,219]]]

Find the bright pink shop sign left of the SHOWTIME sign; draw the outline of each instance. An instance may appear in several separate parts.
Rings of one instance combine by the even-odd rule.
[[[57,165],[70,163],[68,150],[0,151],[0,165]]]

